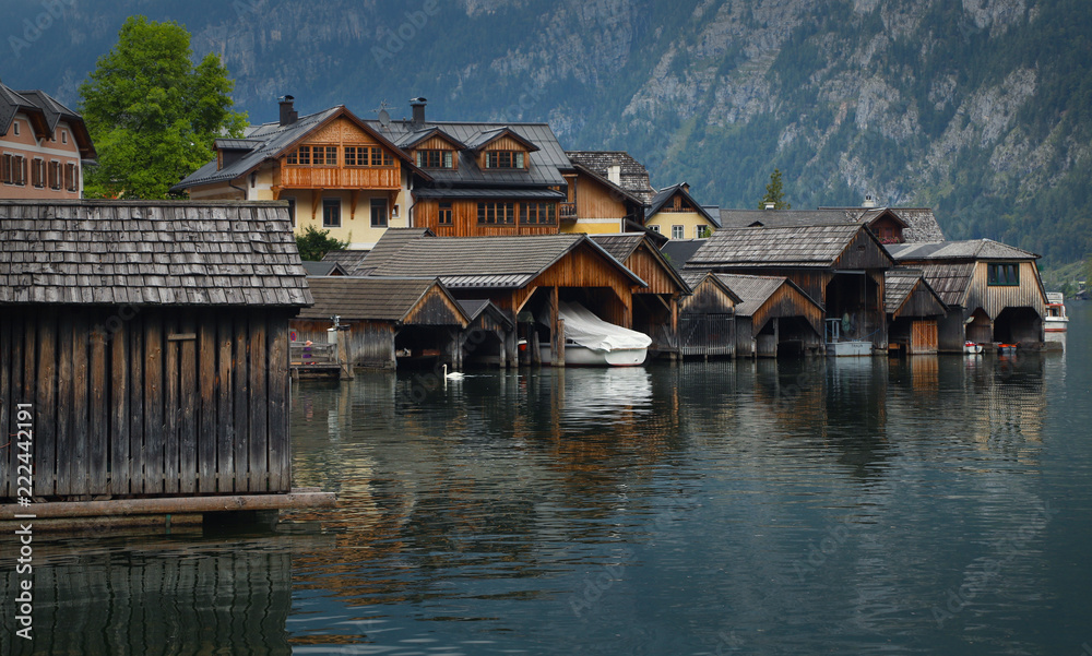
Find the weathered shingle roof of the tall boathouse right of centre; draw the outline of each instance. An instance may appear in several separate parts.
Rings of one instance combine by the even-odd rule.
[[[859,236],[875,243],[893,265],[871,230],[858,224],[785,228],[721,228],[687,262],[689,269],[732,266],[750,269],[821,267],[834,265]]]

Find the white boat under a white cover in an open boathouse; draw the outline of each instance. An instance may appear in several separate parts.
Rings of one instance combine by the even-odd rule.
[[[603,321],[577,302],[558,303],[565,320],[565,363],[587,367],[637,367],[644,363],[652,337]],[[543,362],[550,361],[549,345],[541,345]]]

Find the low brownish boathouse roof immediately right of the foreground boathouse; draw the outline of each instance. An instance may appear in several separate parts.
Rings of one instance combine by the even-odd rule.
[[[314,306],[299,313],[299,319],[404,322],[418,303],[434,289],[459,308],[451,294],[436,278],[312,277],[307,279]],[[460,310],[455,319],[465,326],[470,320]]]

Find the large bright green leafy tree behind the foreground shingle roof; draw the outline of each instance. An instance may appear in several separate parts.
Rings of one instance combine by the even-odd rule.
[[[214,55],[192,62],[190,34],[177,23],[130,16],[118,43],[80,85],[80,109],[98,151],[87,196],[163,199],[213,158],[213,140],[241,136],[245,114]]]

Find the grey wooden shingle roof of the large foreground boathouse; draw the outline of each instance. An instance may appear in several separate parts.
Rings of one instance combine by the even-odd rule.
[[[0,303],[311,303],[276,202],[0,201]]]

